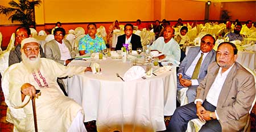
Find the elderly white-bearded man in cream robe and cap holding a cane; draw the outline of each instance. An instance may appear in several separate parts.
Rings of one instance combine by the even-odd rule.
[[[74,100],[61,92],[57,77],[91,71],[90,67],[66,67],[51,59],[40,58],[39,42],[29,37],[21,42],[22,62],[9,71],[9,101],[22,107],[26,117],[14,122],[18,131],[35,131],[31,97],[36,97],[39,131],[86,131],[84,111]],[[7,78],[7,76],[3,76]],[[41,91],[41,95],[36,94]]]

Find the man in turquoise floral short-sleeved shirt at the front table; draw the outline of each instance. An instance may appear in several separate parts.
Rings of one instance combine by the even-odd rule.
[[[88,34],[79,40],[79,54],[84,55],[92,52],[100,52],[106,49],[106,44],[101,37],[96,35],[96,24],[89,23],[87,25]]]

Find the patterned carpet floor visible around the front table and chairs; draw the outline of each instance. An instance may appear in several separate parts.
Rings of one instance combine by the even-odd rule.
[[[1,78],[0,75],[0,84],[1,84]],[[10,124],[5,120],[6,118],[6,109],[7,106],[5,104],[5,97],[3,96],[2,87],[0,87],[0,131],[1,132],[10,132],[13,131],[13,124]],[[251,131],[256,131],[256,104],[253,107],[253,110],[251,111],[250,118],[251,118]],[[164,122],[166,123],[166,126],[168,126],[170,122],[171,117],[166,116],[164,117]],[[97,131],[96,127],[96,121],[90,121],[84,123],[87,131]]]

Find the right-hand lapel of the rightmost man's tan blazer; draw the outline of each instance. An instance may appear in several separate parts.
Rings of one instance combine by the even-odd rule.
[[[229,93],[230,89],[231,89],[231,86],[232,86],[232,83],[233,83],[233,78],[234,78],[234,75],[236,73],[236,69],[237,69],[237,66],[236,66],[236,63],[234,64],[234,66],[232,67],[232,69],[229,71],[229,74],[228,76],[226,76],[226,80],[221,88],[221,92],[220,92],[220,96],[218,96],[218,103],[217,103],[217,106],[220,104],[224,104],[225,100],[226,100],[226,97],[227,94]],[[218,106],[220,107],[220,106]]]

